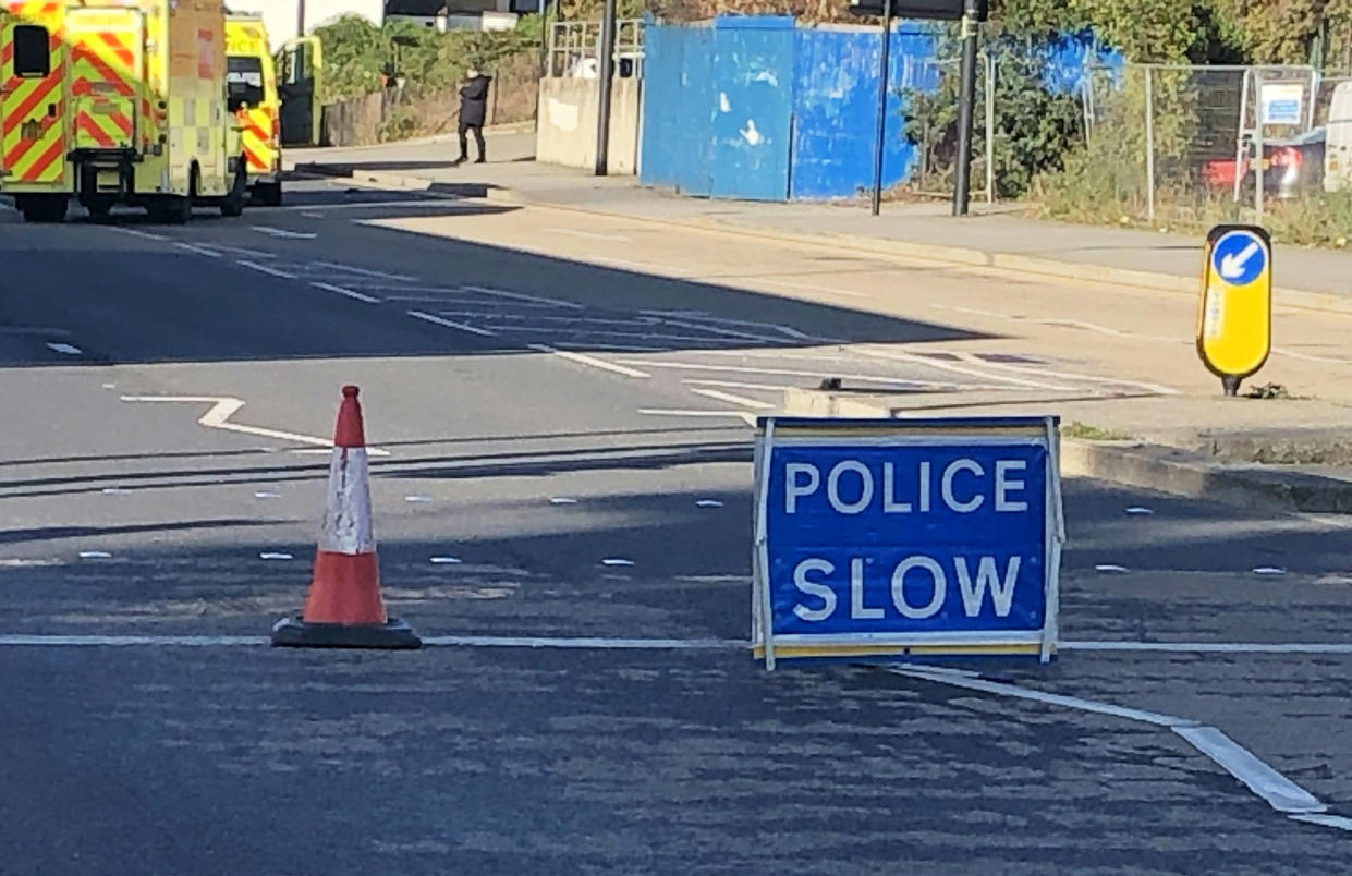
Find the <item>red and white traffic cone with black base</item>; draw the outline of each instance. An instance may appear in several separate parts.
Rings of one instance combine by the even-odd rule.
[[[385,615],[370,519],[366,437],[357,387],[342,388],[329,495],[304,612],[272,627],[292,648],[420,648],[407,623]]]

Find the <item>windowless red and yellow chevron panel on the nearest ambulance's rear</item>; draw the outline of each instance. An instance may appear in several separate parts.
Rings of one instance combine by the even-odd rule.
[[[70,53],[76,149],[132,145],[132,115],[138,105],[134,39],[132,34],[119,31],[76,34]]]

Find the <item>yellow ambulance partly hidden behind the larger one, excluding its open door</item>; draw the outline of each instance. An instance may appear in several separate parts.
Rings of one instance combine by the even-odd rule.
[[[277,74],[261,15],[226,14],[226,87],[239,127],[253,203],[281,204]]]

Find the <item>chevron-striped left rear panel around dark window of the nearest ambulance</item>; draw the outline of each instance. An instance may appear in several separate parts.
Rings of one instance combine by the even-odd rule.
[[[0,168],[7,182],[61,182],[65,177],[65,97],[61,68],[61,4],[9,3],[8,16],[49,31],[51,73],[20,78],[14,70],[14,43],[0,45]]]

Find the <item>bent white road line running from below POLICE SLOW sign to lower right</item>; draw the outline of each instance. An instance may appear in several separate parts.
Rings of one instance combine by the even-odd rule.
[[[1295,784],[1282,773],[1276,772],[1259,760],[1252,752],[1237,745],[1228,735],[1215,727],[1207,727],[1190,718],[1175,718],[1160,712],[1125,708],[1113,703],[1086,700],[1078,696],[1064,696],[1048,694],[1033,688],[1023,688],[1014,684],[987,681],[957,672],[936,669],[932,666],[904,666],[888,669],[894,675],[946,684],[968,691],[980,691],[996,696],[1032,700],[1048,706],[1060,706],[1076,711],[1087,711],[1114,718],[1125,718],[1157,727],[1167,727],[1182,737],[1188,745],[1209,757],[1224,771],[1240,780],[1253,794],[1263,798],[1268,806],[1287,815],[1303,815],[1324,812],[1328,807],[1320,803],[1309,791]]]

